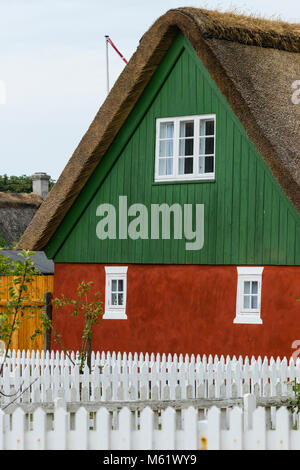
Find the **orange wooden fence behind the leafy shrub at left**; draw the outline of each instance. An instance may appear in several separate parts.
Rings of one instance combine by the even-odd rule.
[[[9,299],[8,289],[11,286],[13,276],[0,276],[0,315],[5,313],[5,304]],[[11,349],[44,349],[44,337],[38,335],[33,341],[30,336],[37,328],[41,328],[39,320],[39,311],[44,306],[44,293],[53,293],[53,276],[35,276],[31,285],[28,286],[26,297],[31,299],[28,304],[28,312],[25,309],[23,318],[20,318],[22,323],[18,330],[13,334]],[[29,311],[30,307],[36,307],[32,312]],[[30,316],[30,318],[28,318]]]

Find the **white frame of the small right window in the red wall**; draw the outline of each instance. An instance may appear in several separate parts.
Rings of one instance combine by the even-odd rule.
[[[262,273],[263,267],[254,266],[238,266],[238,283],[236,294],[236,317],[233,323],[247,323],[247,324],[262,324],[261,319],[261,288],[262,288]],[[257,308],[244,308],[244,282],[256,281],[258,282],[258,303]]]

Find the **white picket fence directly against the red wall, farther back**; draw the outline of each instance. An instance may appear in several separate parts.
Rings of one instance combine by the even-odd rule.
[[[78,353],[72,352],[76,363]],[[61,352],[12,351],[0,377],[0,403],[174,400],[287,396],[300,382],[300,361],[291,358],[218,358],[175,354],[93,353],[92,371],[74,366]],[[11,396],[9,396],[11,395]]]

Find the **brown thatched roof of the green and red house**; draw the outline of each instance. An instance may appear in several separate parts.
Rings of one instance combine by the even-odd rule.
[[[98,111],[19,246],[43,249],[111,145],[179,31],[300,213],[300,25],[179,8],[160,17]]]

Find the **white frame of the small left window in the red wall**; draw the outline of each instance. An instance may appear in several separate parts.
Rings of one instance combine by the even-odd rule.
[[[105,266],[105,313],[104,320],[126,320],[128,266]],[[111,305],[112,281],[123,281],[123,305]]]

